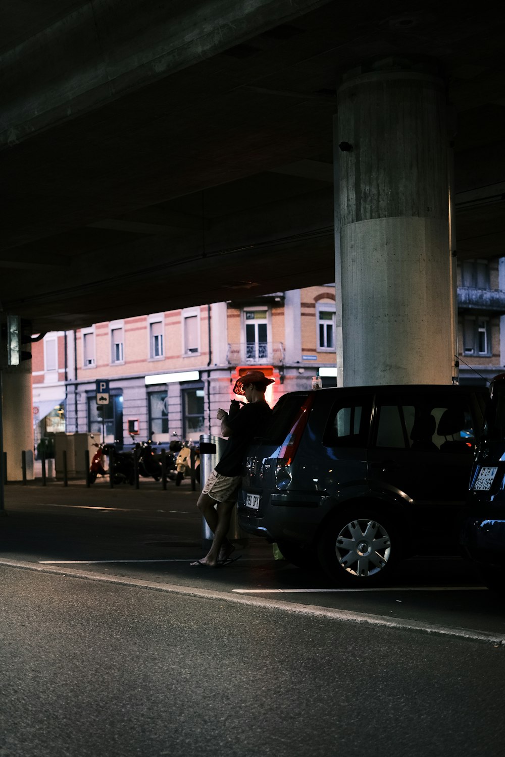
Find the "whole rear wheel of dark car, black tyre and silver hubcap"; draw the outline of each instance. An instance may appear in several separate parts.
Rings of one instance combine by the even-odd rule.
[[[390,571],[397,559],[394,540],[391,519],[357,507],[352,515],[335,516],[327,524],[317,553],[337,584],[364,587],[378,584]]]

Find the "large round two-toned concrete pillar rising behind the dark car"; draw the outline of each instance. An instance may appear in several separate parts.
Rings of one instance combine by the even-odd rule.
[[[449,384],[444,83],[391,61],[338,90],[344,385]]]

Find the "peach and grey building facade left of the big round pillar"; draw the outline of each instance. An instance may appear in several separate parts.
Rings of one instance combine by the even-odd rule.
[[[236,378],[259,368],[275,379],[267,401],[335,372],[335,285],[275,292],[51,332],[33,344],[36,445],[55,431],[198,441],[218,434]],[[324,372],[324,371],[323,371]],[[109,402],[97,404],[97,382]],[[335,375],[323,378],[335,385]]]

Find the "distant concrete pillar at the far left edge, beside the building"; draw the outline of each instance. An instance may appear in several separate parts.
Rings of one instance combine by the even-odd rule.
[[[2,370],[4,450],[7,453],[7,480],[22,481],[21,452],[33,453],[32,361]],[[28,455],[26,477],[33,479],[33,454]]]

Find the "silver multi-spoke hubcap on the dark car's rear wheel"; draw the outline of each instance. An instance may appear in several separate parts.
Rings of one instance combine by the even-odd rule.
[[[354,520],[338,534],[335,555],[348,573],[366,578],[385,568],[391,555],[391,539],[377,521]]]

